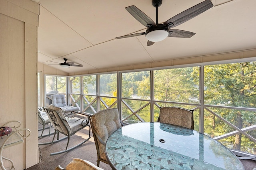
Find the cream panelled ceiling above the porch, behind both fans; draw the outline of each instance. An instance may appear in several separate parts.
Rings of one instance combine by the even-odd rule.
[[[125,7],[135,5],[153,21],[152,0],[37,0],[38,61],[68,73],[152,63],[256,48],[256,0],[212,0],[214,7],[174,29],[196,33],[146,46],[146,28]],[[158,23],[203,0],[163,0]],[[63,58],[83,67],[62,68]],[[57,63],[53,63],[53,62]]]

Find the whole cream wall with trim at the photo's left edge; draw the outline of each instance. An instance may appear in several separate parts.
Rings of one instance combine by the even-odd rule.
[[[31,0],[0,0],[0,125],[18,120],[31,130],[24,143],[4,149],[16,170],[38,163],[38,15],[39,4]]]

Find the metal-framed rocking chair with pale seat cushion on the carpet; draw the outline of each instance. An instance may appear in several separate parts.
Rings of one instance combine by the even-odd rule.
[[[69,115],[69,117],[65,117],[65,115],[60,107],[55,107],[55,106],[51,106],[51,105],[44,107],[44,110],[45,110],[46,114],[48,115],[50,122],[52,123],[52,125],[54,127],[54,137],[52,139],[52,142],[40,143],[38,145],[48,145],[48,144],[56,143],[58,141],[66,139],[66,138],[68,138],[68,143],[69,143],[70,137],[72,135],[74,135],[76,132],[84,129],[84,127],[87,127],[87,126],[89,127],[89,137],[87,139],[85,139],[78,145],[71,147],[69,149],[68,149],[68,143],[67,143],[65,150],[62,150],[60,152],[54,152],[54,153],[51,153],[50,155],[61,154],[61,153],[67,152],[69,150],[75,149],[76,147],[82,145],[83,143],[85,143],[86,141],[88,141],[91,138],[90,137],[91,127],[88,125],[89,120],[87,117],[84,117],[84,116],[76,117],[74,115],[73,116]],[[54,141],[56,133],[57,133],[57,140]],[[62,133],[66,137],[59,139],[59,133]]]

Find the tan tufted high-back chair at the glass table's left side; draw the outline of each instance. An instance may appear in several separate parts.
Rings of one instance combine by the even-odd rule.
[[[89,116],[89,120],[97,150],[97,166],[100,165],[100,161],[109,164],[105,153],[106,141],[111,133],[124,126],[119,119],[118,109],[112,108],[98,111]]]

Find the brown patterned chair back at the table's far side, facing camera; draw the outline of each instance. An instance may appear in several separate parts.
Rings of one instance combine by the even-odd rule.
[[[194,129],[193,112],[181,107],[161,107],[158,122]]]

